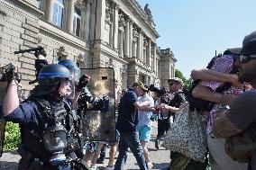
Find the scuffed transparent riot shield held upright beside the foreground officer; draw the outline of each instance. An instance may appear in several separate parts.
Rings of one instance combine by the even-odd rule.
[[[81,121],[83,139],[115,141],[114,69],[82,68],[81,75],[91,77],[84,92],[87,109]],[[82,104],[83,104],[82,103]]]

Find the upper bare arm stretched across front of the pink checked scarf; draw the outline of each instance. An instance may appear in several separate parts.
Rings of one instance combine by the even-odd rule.
[[[234,86],[243,87],[243,85],[239,82],[237,75],[226,74],[226,73],[214,71],[207,68],[193,69],[191,71],[190,76],[194,80],[201,79],[201,80],[228,82],[228,83],[232,83]]]

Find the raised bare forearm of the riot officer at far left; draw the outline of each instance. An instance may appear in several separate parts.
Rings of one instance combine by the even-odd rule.
[[[14,112],[14,110],[19,107],[19,97],[18,97],[18,85],[13,80],[7,87],[7,92],[5,94],[3,102],[3,112],[6,115]]]

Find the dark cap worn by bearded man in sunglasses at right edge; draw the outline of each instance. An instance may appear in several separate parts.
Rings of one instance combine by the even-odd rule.
[[[250,55],[256,54],[256,31],[252,31],[242,40],[242,48],[228,49],[234,54]]]

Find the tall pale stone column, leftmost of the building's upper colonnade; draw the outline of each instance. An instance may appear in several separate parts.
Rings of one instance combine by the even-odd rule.
[[[117,41],[118,41],[118,9],[119,6],[114,4],[114,25],[113,25],[113,47],[117,49]]]

